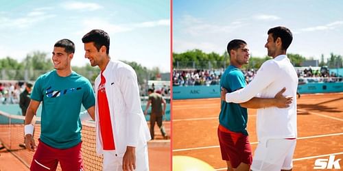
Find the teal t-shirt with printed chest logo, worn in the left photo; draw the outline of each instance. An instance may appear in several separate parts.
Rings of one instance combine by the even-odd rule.
[[[95,105],[91,83],[72,72],[60,77],[56,70],[41,75],[34,83],[31,98],[42,101],[40,140],[54,148],[70,148],[81,142],[81,105]]]

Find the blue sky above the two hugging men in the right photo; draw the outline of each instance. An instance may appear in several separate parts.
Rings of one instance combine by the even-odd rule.
[[[293,33],[287,53],[320,60],[321,54],[343,55],[343,2],[316,1],[173,1],[173,51],[201,49],[221,55],[227,43],[246,40],[252,56],[264,57],[271,27]]]

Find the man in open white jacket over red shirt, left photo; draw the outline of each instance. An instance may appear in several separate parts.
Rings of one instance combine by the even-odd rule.
[[[101,29],[84,35],[85,57],[99,66],[95,79],[95,135],[103,170],[149,170],[147,141],[151,139],[143,111],[137,75],[131,66],[110,60],[110,37]]]

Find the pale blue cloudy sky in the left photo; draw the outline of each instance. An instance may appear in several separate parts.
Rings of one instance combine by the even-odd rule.
[[[21,61],[27,53],[49,53],[62,38],[75,43],[73,66],[84,66],[82,36],[91,29],[110,35],[110,56],[163,72],[170,70],[170,1],[0,0],[0,57]]]

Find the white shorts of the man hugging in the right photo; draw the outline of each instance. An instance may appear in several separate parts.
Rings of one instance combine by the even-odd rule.
[[[293,168],[293,154],[296,140],[268,139],[261,140],[252,157],[251,170],[280,171]]]

